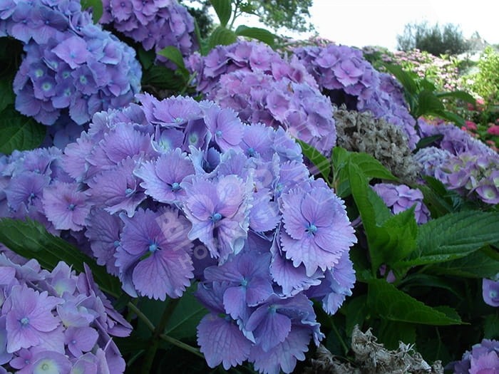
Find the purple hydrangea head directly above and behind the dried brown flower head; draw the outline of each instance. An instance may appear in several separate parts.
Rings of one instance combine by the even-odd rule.
[[[330,44],[299,47],[294,55],[307,67],[321,92],[329,96],[332,103],[344,104],[348,110],[369,110],[375,118],[402,128],[409,147],[416,147],[419,140],[416,121],[408,111],[400,83],[389,74],[376,71],[360,50]]]

